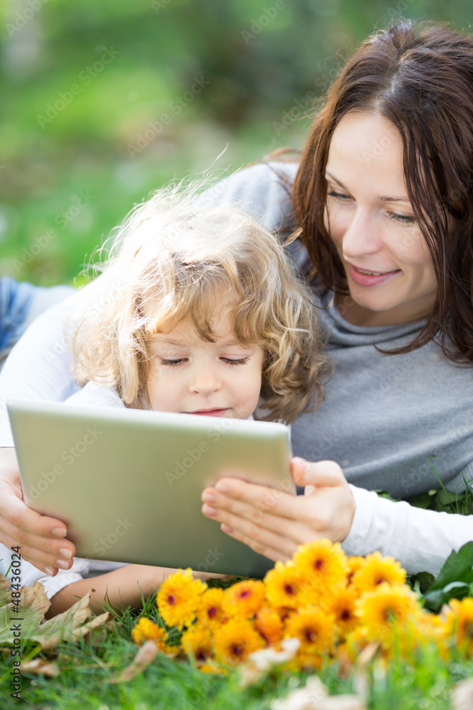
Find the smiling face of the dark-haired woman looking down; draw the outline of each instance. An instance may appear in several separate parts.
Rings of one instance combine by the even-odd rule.
[[[325,226],[351,295],[337,301],[345,319],[378,326],[428,315],[437,282],[408,200],[399,131],[382,116],[350,111],[330,141],[325,178]]]

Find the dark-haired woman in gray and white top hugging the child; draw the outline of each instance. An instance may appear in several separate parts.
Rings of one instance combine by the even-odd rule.
[[[206,193],[233,195],[282,236],[296,229],[335,366],[325,401],[293,427],[305,496],[232,478],[204,491],[204,514],[229,535],[271,559],[330,537],[349,554],[380,549],[408,572],[434,573],[473,538],[471,517],[374,493],[408,498],[438,487],[437,476],[460,491],[473,478],[472,176],[473,40],[406,22],[348,60],[299,168],[255,166]],[[304,249],[291,249],[302,265]],[[4,396],[67,394],[61,328],[77,297],[30,328],[6,364]],[[3,471],[0,540],[23,543],[42,569],[67,568],[65,528],[23,506],[11,451]]]

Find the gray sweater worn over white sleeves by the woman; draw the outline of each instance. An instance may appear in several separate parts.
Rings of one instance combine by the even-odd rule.
[[[287,236],[294,228],[291,202],[277,173],[291,182],[296,168],[254,165],[218,183],[206,199],[233,199],[267,229]],[[304,271],[304,246],[293,243],[289,250]],[[332,294],[321,299],[315,282],[313,288],[334,373],[316,412],[294,422],[294,454],[337,461],[350,483],[395,498],[438,488],[432,466],[448,490],[464,490],[464,479],[473,479],[473,367],[455,366],[433,343],[382,355],[374,344],[396,349],[424,322],[358,327],[330,305]]]

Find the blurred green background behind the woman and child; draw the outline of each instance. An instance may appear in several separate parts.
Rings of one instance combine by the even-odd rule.
[[[78,284],[163,182],[301,146],[343,58],[399,16],[469,31],[473,3],[3,0],[0,274]]]

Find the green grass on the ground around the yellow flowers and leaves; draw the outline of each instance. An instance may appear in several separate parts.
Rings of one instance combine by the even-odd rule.
[[[433,510],[447,508],[452,512],[473,513],[469,491],[455,496],[440,490],[411,502]],[[462,548],[464,555],[469,545]],[[460,552],[457,557],[461,555]],[[410,581],[419,587],[416,577]],[[162,624],[155,599],[150,597],[143,599],[139,614],[130,609],[113,613],[113,623],[108,629],[96,630],[78,643],[62,643],[52,652],[41,652],[27,641],[23,660],[32,657],[51,660],[60,667],[60,675],[47,678],[23,672],[21,706],[35,710],[270,710],[274,698],[284,697],[306,682],[307,673],[279,670],[244,689],[238,671],[226,676],[204,674],[187,660],[158,655],[142,674],[129,682],[113,684],[112,679],[135,657],[137,646],[131,642],[130,633],[141,615]],[[169,643],[178,640],[179,633],[174,630]],[[18,700],[10,696],[9,688],[12,661],[9,651],[5,650],[1,658],[0,706],[2,710],[16,709]],[[375,656],[367,667],[367,704],[369,710],[450,710],[452,688],[472,675],[473,659],[460,657],[455,648],[450,662],[440,658],[433,645],[425,645],[410,662],[394,655],[387,669]],[[335,695],[354,692],[360,682],[356,665],[347,674],[338,662],[328,663],[318,676],[330,694]]]

